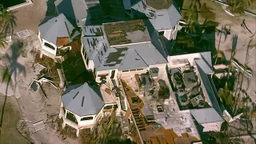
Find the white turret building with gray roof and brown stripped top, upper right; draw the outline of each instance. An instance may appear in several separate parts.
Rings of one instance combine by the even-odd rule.
[[[182,18],[178,6],[171,0],[141,0],[131,6],[135,18],[145,14],[154,30],[166,39],[175,39],[178,32],[178,22]]]

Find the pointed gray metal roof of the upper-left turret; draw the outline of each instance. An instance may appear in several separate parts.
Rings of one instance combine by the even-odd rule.
[[[39,30],[43,39],[57,45],[57,38],[68,37],[69,42],[72,41],[70,34],[74,30],[74,26],[66,19],[64,14],[59,14],[57,17],[39,25]],[[77,34],[74,34],[73,38]]]

